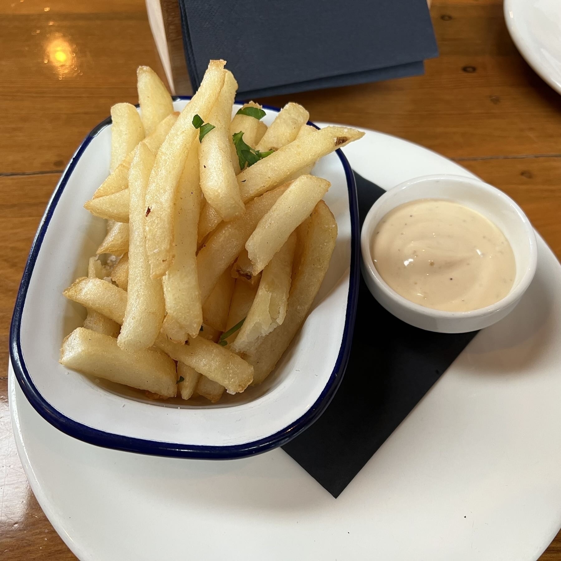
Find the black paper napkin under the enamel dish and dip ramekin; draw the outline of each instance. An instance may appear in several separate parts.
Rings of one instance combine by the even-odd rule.
[[[362,227],[385,191],[357,173],[355,178]],[[361,276],[341,386],[319,420],[284,451],[337,498],[476,333],[411,327],[374,300]]]

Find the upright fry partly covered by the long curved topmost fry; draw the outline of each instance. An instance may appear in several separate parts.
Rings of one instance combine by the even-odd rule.
[[[165,310],[176,321],[172,339],[196,337],[203,322],[197,271],[197,223],[201,205],[199,147],[191,145],[181,174],[175,205],[175,259],[162,277]]]

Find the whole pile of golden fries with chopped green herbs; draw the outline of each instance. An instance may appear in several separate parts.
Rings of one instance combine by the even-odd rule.
[[[61,364],[154,399],[243,392],[274,369],[327,272],[337,223],[315,162],[364,133],[316,130],[287,104],[270,127],[210,61],[181,113],[148,67],[140,113],[111,109],[111,173],[84,206],[107,220],[88,275],[64,295],[86,307]]]

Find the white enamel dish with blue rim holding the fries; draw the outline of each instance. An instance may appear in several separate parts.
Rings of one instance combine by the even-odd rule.
[[[178,100],[174,108],[185,104]],[[263,120],[270,124],[278,110],[266,111]],[[27,399],[59,430],[119,450],[234,458],[288,442],[327,406],[350,351],[360,273],[356,191],[346,159],[338,151],[314,169],[332,183],[325,201],[338,236],[300,333],[263,384],[214,406],[192,406],[179,399],[150,401],[142,392],[100,383],[58,363],[62,339],[84,320],[85,309],[68,302],[62,291],[84,275],[103,239],[104,221],[82,205],[107,176],[110,147],[111,125],[105,121],[62,174],[31,248],[11,330],[12,364]]]

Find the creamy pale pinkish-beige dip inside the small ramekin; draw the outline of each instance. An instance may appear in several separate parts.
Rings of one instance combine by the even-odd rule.
[[[371,242],[381,278],[411,302],[468,311],[504,298],[516,276],[503,232],[476,210],[421,199],[391,210]]]

